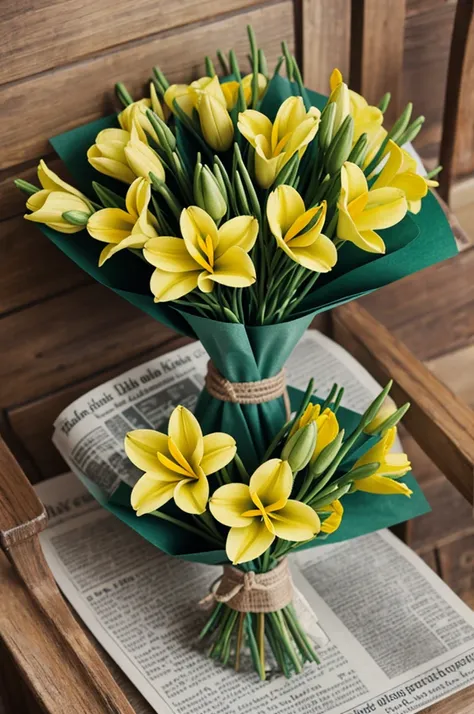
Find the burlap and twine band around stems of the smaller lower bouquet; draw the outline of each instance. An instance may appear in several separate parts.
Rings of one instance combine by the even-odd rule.
[[[225,565],[222,575],[199,605],[206,608],[223,602],[238,612],[276,612],[289,605],[292,599],[293,582],[288,560],[283,558],[267,573],[244,573]]]

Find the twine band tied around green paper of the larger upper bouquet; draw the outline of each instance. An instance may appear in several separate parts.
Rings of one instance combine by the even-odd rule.
[[[284,368],[274,377],[261,379],[257,382],[230,382],[209,361],[205,381],[209,394],[221,402],[263,404],[263,402],[271,402],[278,397],[283,397],[287,417],[290,417],[291,406],[286,389]]]

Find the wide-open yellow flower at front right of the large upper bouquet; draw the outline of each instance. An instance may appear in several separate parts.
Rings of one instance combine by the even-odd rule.
[[[385,253],[385,243],[376,230],[390,228],[405,216],[408,206],[399,188],[369,191],[364,172],[346,161],[341,169],[341,194],[337,205],[337,236],[369,253]]]

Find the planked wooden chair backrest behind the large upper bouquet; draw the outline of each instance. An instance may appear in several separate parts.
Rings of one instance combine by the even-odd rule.
[[[377,102],[390,90],[393,118],[404,101],[405,36],[420,49],[412,20],[416,4],[415,0],[408,0],[406,7],[404,0],[156,0],[151,4],[136,0],[133,11],[127,0],[72,4],[59,0],[54,5],[33,0],[21,10],[14,0],[1,4],[0,431],[32,480],[64,468],[50,444],[50,433],[54,418],[67,403],[133,363],[175,346],[177,338],[93,284],[26,223],[24,197],[12,179],[35,180],[40,156],[64,175],[48,137],[112,111],[115,81],[123,80],[138,97],[153,64],[159,63],[171,81],[183,81],[199,75],[202,57],[218,47],[234,47],[243,61],[247,23],[254,26],[270,66],[280,53],[281,39],[286,38],[299,56],[308,86],[327,92],[329,73],[339,66],[369,101]],[[430,5],[427,0],[424,4]],[[459,101],[452,97],[450,101],[458,111],[447,112],[447,123],[451,128],[462,125],[463,131],[464,117],[472,115],[472,94],[467,91],[473,71],[472,5],[473,0],[458,3],[455,58],[450,65],[450,73],[456,74],[449,81],[450,91],[454,80],[460,90]],[[420,13],[425,21],[425,8]],[[443,13],[438,23],[449,27]],[[452,22],[452,6],[449,13]],[[409,27],[411,35],[407,35]],[[445,35],[441,44],[446,54],[449,37]],[[413,47],[408,51],[411,59],[405,75],[413,85]],[[425,77],[420,89],[425,98],[426,86],[432,89],[438,82],[438,77]],[[432,121],[428,131],[436,133],[435,124]],[[455,155],[461,157],[463,171],[474,169],[469,163],[472,152],[466,159],[465,148],[474,141],[469,127],[470,133],[458,142],[463,150],[456,154],[451,141],[451,153],[445,154],[451,161],[449,177]]]

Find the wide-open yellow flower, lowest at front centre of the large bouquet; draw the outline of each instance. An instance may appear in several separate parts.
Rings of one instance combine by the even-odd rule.
[[[258,233],[258,221],[238,216],[219,229],[198,206],[183,209],[183,238],[152,238],[143,254],[155,266],[150,287],[155,302],[177,300],[194,290],[212,292],[214,283],[246,288],[255,282],[255,267],[247,255]]]

